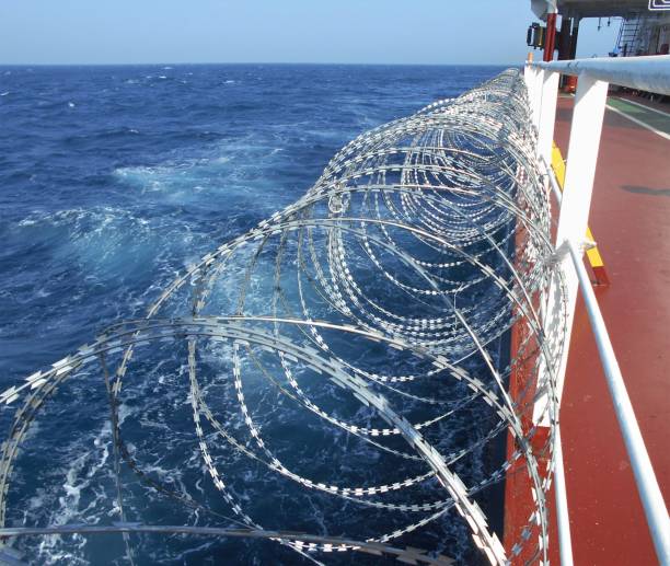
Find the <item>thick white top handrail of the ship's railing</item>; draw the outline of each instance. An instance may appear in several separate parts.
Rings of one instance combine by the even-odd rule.
[[[593,57],[530,63],[540,69],[578,77],[588,74],[599,81],[628,89],[670,94],[670,55],[643,57]]]

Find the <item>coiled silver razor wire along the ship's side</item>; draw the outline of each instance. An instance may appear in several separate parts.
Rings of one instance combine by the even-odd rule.
[[[548,193],[535,145],[525,86],[516,70],[353,140],[302,198],[205,255],[164,289],[145,319],[109,326],[91,344],[0,395],[7,405],[23,400],[2,444],[0,527],[8,520],[8,492],[31,425],[61,385],[99,367],[111,409],[122,521],[108,532],[123,533],[130,563],[129,533],[142,529],[265,538],[312,561],[334,548],[367,547],[407,558],[405,551],[389,544],[447,513],[465,522],[474,545],[492,564],[508,564],[518,556],[547,563],[546,493],[563,335],[558,332],[550,340],[545,328],[565,327],[565,308],[563,292],[555,304],[547,304],[550,286],[562,290],[564,282],[554,262]],[[513,347],[506,356],[501,349],[509,348],[506,340],[512,333]],[[162,344],[174,345],[175,351],[177,345],[186,348],[183,379],[193,442],[232,520],[242,528],[238,533],[216,527],[198,531],[127,523],[122,466],[175,503],[212,520],[230,520],[207,501],[153,477],[124,440],[118,416],[124,385],[143,379],[134,365],[150,360]],[[206,353],[224,358],[226,370],[206,367]],[[521,386],[510,392],[512,380]],[[300,466],[284,461],[267,439],[267,426],[257,423],[258,411],[245,393],[252,381],[254,388],[272,390],[325,427],[395,461],[397,476],[359,485],[347,483],[337,466],[327,483],[310,477],[310,470],[297,470]],[[234,392],[234,403],[226,411],[212,406],[216,400],[207,394],[208,384],[220,382]],[[340,393],[315,395],[315,388],[324,384],[336,385]],[[443,398],[444,391],[453,397]],[[539,442],[533,412],[544,398],[548,402],[540,418],[550,427]],[[366,417],[347,403],[361,407]],[[480,411],[488,428],[440,451],[431,431],[460,423],[455,416],[474,405],[484,407]],[[235,423],[243,426],[233,426],[233,417],[226,416],[233,411]],[[454,471],[460,461],[506,439],[505,458],[478,482],[467,485]],[[395,515],[402,524],[388,532],[370,525],[371,532],[342,540],[266,529],[230,488],[217,455],[221,447],[301,489]],[[418,471],[403,474],[403,462]],[[527,476],[533,509],[519,539],[504,545],[476,498],[511,473]],[[426,485],[437,485],[430,494],[439,496],[417,495]],[[0,529],[0,535],[49,529],[94,533],[105,528],[9,528]],[[417,556],[421,559],[414,559],[430,562],[421,553]]]

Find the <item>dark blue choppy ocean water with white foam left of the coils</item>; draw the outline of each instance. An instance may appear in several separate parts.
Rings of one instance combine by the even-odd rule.
[[[109,323],[141,316],[186,266],[294,201],[358,134],[457,96],[500,70],[0,67],[0,388],[62,358]],[[138,384],[122,406],[128,423],[163,429],[151,470],[175,490],[188,483],[180,450],[195,442],[193,426],[184,425],[188,407],[178,401],[185,393],[170,384],[177,370],[176,361],[152,369],[155,382]],[[83,376],[67,385],[61,395],[73,402],[49,406],[37,421],[28,439],[33,452],[26,448],[23,475],[12,485],[8,524],[117,520],[100,379]],[[77,418],[68,418],[71,411]],[[65,424],[50,430],[56,421]],[[285,425],[286,434],[310,441]],[[134,448],[148,442],[139,436],[129,441]],[[186,461],[198,473],[197,457]],[[265,478],[257,470],[243,473],[258,494],[278,489],[259,487]],[[124,477],[132,490],[132,474]],[[205,474],[195,481],[200,495],[217,497],[207,482]],[[233,489],[245,499],[244,484]],[[280,513],[263,497],[254,510],[272,528],[282,524],[280,515],[291,515],[297,522],[290,528],[333,531],[347,516],[339,509],[340,519],[328,522],[323,508],[290,492]],[[134,501],[131,520],[203,520],[166,501],[145,509],[139,495]],[[217,509],[226,513],[224,501]],[[437,546],[467,561],[467,544],[458,542],[467,540],[466,529],[450,525],[438,523],[402,545]],[[149,535],[131,542],[138,564],[308,564],[269,542]],[[43,564],[127,564],[119,535],[25,539],[21,550]],[[338,559],[354,558],[360,559]]]

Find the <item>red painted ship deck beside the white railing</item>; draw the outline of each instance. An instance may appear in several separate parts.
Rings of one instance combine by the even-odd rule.
[[[573,99],[558,101],[567,152]],[[569,155],[566,155],[569,163]],[[607,111],[589,224],[610,287],[596,294],[670,506],[670,141]],[[598,350],[578,301],[561,411],[577,566],[657,564]],[[506,534],[527,517],[507,486]],[[551,494],[551,562],[559,564]]]

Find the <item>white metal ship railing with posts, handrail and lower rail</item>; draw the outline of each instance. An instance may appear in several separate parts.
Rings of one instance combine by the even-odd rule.
[[[556,180],[548,165],[552,162],[558,77],[562,73],[579,77],[563,195],[557,190]],[[531,115],[538,128],[538,158],[547,169],[548,182],[557,193],[559,203],[556,247],[566,252],[559,257],[567,287],[568,321],[565,340],[566,344],[569,344],[575,304],[579,289],[581,289],[656,554],[661,565],[670,566],[668,510],[581,257],[609,84],[670,94],[670,56],[625,59],[593,58],[529,63],[525,67],[524,76],[531,101]],[[557,292],[558,289],[550,289],[548,300],[552,301],[552,296]],[[552,333],[555,337],[557,332],[558,328],[547,328],[550,338]],[[563,351],[556,388],[559,400],[565,381],[568,348],[564,348]],[[540,400],[540,403],[542,402]],[[542,412],[543,407],[536,407],[536,415],[541,415]],[[557,427],[554,458],[561,563],[563,566],[569,566],[573,564],[573,553],[559,427]]]

